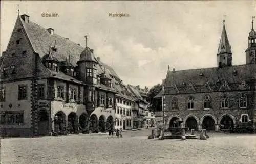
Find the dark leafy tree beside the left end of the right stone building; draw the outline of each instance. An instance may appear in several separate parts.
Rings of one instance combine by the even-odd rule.
[[[156,99],[154,98],[162,90],[162,85],[157,84],[147,93],[147,101],[150,102],[149,110],[154,112],[157,107]]]

